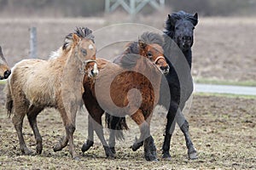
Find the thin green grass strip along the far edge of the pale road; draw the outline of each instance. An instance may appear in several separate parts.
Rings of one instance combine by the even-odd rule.
[[[217,84],[217,85],[233,85],[233,86],[249,86],[256,87],[256,81],[244,81],[237,82],[232,80],[218,80],[218,79],[209,79],[209,78],[194,78],[196,83],[204,84]]]

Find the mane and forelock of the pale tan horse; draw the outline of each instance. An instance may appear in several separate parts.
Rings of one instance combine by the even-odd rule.
[[[73,42],[73,34],[76,34],[80,38],[88,38],[92,42],[94,42],[94,36],[92,35],[92,31],[87,27],[77,27],[77,29],[73,33],[69,33],[64,40],[64,44],[62,49],[67,49],[67,47]]]

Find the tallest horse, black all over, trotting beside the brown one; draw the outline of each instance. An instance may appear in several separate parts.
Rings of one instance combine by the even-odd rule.
[[[166,99],[166,87],[160,88],[160,105],[164,105],[168,109],[165,140],[162,146],[163,158],[170,159],[170,143],[172,133],[177,122],[182,130],[186,145],[188,148],[189,159],[196,159],[197,154],[194,145],[189,137],[189,122],[183,116],[183,108],[186,101],[193,92],[193,80],[191,77],[192,52],[191,47],[194,41],[194,29],[198,23],[197,14],[188,14],[179,11],[172,15],[168,14],[166,20],[165,37],[165,56],[168,65],[170,65],[169,74],[166,75],[171,99]],[[183,57],[184,56],[184,57]],[[164,83],[161,83],[164,84]],[[123,139],[122,129],[127,128],[125,117],[111,116],[106,113],[106,123],[110,130],[109,146],[115,153],[115,138]],[[116,131],[119,130],[119,131]],[[138,145],[142,146],[143,142]],[[134,149],[133,149],[134,150]]]

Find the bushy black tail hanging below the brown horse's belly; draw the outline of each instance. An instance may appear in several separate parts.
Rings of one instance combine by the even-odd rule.
[[[118,116],[112,116],[108,114],[108,112],[105,113],[105,122],[108,127],[108,129],[111,130],[117,130],[115,132],[115,138],[118,140],[125,139],[123,130],[128,130],[129,127],[126,124],[125,117],[118,117]]]

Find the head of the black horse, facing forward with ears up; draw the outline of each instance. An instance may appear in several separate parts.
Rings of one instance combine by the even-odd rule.
[[[187,14],[180,11],[168,14],[166,20],[166,33],[177,43],[182,51],[192,47],[194,41],[194,29],[198,22],[198,15]]]

